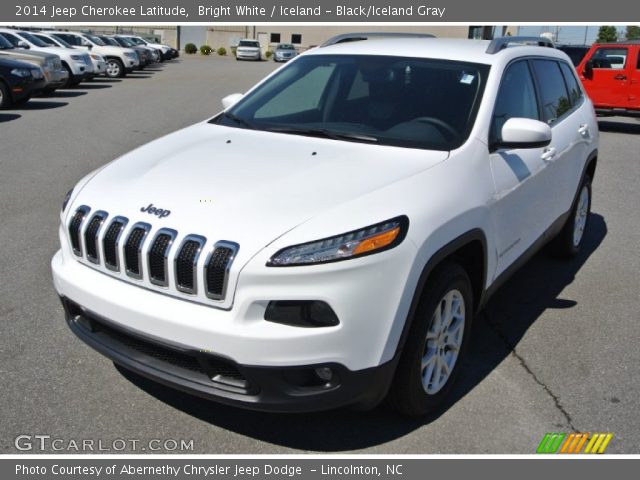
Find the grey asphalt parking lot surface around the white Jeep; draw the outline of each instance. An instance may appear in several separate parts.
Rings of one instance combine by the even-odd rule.
[[[278,66],[183,56],[0,112],[0,452],[17,453],[14,438],[26,434],[105,445],[193,439],[189,453],[534,453],[546,432],[576,431],[611,432],[608,453],[640,453],[638,120],[601,119],[582,254],[563,262],[541,252],[492,299],[435,417],[408,420],[384,406],[238,410],[116,368],[68,330],[49,267],[65,193],[119,155],[212,116],[222,97]]]

